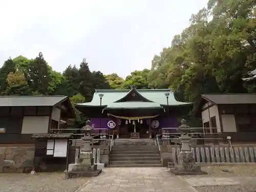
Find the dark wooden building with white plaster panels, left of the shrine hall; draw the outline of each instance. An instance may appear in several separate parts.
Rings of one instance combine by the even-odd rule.
[[[52,133],[74,117],[67,96],[1,96],[0,144],[33,143],[32,134]]]

